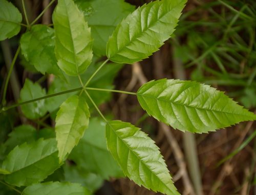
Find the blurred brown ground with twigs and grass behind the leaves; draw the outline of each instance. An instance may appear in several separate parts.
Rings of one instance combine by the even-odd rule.
[[[108,0],[105,0],[108,1]],[[136,7],[150,1],[127,0]],[[21,8],[20,1],[13,3]],[[49,1],[26,1],[29,18],[33,20]],[[51,23],[53,7],[39,23]],[[20,9],[22,12],[22,9]],[[179,25],[172,38],[148,59],[133,65],[124,65],[114,80],[116,89],[133,91],[153,79],[193,80],[225,91],[252,112],[256,110],[256,1],[188,0]],[[23,32],[25,29],[23,30]],[[1,85],[6,77],[4,52],[13,56],[19,36],[2,42]],[[9,61],[12,58],[7,59]],[[23,60],[15,65],[17,91],[25,78],[38,80]],[[51,76],[47,76],[48,81]],[[44,83],[45,80],[42,80]],[[8,89],[7,100],[15,102],[13,86]],[[18,94],[16,94],[18,96]],[[135,96],[113,94],[100,109],[115,119],[129,121],[149,134],[161,153],[181,194],[256,194],[256,126],[252,121],[221,129],[209,134],[188,134],[159,123],[139,106]],[[1,116],[1,129],[21,122]],[[48,120],[47,123],[52,125]],[[4,142],[9,132],[0,131]],[[74,177],[74,176],[72,176]],[[95,184],[95,182],[94,182]],[[0,184],[2,185],[2,184]],[[11,192],[0,194],[11,194]],[[1,189],[0,187],[0,189]],[[7,190],[8,191],[8,190]],[[15,193],[14,193],[15,194]],[[130,181],[110,179],[101,182],[95,194],[156,194]]]

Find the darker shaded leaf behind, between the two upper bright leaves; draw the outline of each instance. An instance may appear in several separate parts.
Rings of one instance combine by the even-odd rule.
[[[123,0],[75,0],[78,8],[91,27],[93,52],[97,55],[106,54],[106,42],[119,22],[134,11],[134,6]]]

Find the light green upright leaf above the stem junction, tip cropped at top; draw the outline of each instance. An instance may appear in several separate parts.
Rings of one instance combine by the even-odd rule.
[[[91,30],[72,0],[59,0],[53,13],[55,54],[60,69],[71,76],[86,71],[92,61]]]

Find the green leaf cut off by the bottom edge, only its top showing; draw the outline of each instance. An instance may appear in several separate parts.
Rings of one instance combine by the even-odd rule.
[[[28,186],[22,195],[90,195],[88,189],[77,183],[68,182],[47,182]]]

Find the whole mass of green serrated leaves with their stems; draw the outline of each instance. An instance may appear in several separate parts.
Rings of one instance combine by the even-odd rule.
[[[59,0],[52,28],[34,25],[40,17],[29,23],[26,9],[27,25],[20,23],[18,9],[0,0],[0,40],[17,35],[21,25],[27,28],[20,36],[12,66],[21,48],[22,63],[33,67],[28,69],[54,78],[47,83],[48,90],[42,84],[46,76],[35,82],[26,79],[18,103],[8,106],[10,68],[0,115],[5,128],[0,174],[7,186],[26,186],[20,189],[27,195],[91,194],[103,180],[125,175],[153,191],[179,194],[155,142],[139,128],[109,121],[101,113],[97,106],[108,101],[111,92],[136,95],[149,115],[181,131],[208,133],[256,119],[224,92],[198,82],[161,79],[145,83],[137,93],[113,90],[123,64],[148,58],[170,38],[185,3],[160,0],[135,10],[123,0]],[[179,47],[176,54],[182,51]],[[212,57],[226,74],[218,57]],[[193,59],[193,63],[197,61]],[[31,125],[14,128],[13,121],[5,121],[7,110],[18,106]],[[102,119],[90,118],[95,111]],[[49,116],[54,131],[46,121]]]

